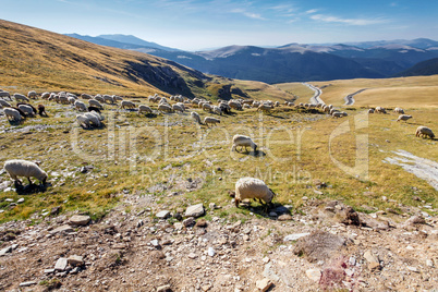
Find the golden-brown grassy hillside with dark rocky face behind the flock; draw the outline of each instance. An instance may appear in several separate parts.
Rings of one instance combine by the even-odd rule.
[[[98,46],[2,20],[0,44],[2,87],[193,97],[211,80],[155,56]]]

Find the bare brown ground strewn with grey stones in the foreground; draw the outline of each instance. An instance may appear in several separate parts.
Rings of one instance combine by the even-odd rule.
[[[54,208],[1,224],[0,290],[438,291],[438,218],[415,207],[361,214],[304,197],[300,211],[219,218],[214,204],[172,214],[120,196],[97,222]]]

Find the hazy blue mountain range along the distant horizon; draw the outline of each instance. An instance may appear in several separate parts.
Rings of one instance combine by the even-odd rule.
[[[228,46],[208,51],[183,51],[126,35],[69,36],[166,58],[203,73],[269,84],[391,77],[418,62],[438,58],[438,41],[427,38],[288,44],[275,48]]]

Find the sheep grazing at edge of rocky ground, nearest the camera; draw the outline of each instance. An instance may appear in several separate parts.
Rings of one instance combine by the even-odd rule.
[[[257,198],[259,203],[264,200],[269,206],[275,195],[264,181],[255,178],[242,178],[235,183],[234,204],[239,208],[241,200]]]

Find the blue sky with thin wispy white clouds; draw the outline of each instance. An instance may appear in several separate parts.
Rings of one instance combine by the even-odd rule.
[[[0,8],[2,20],[56,33],[135,35],[184,50],[438,40],[438,0],[0,0]]]

